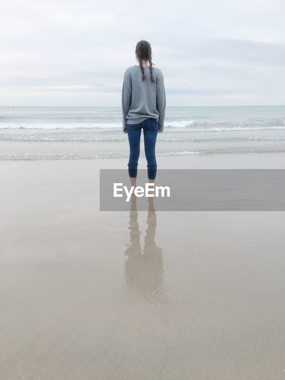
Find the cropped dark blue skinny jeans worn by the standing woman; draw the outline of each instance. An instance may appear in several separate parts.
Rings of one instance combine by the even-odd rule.
[[[147,176],[149,179],[154,180],[157,171],[155,142],[158,132],[158,122],[153,118],[146,119],[139,124],[127,123],[127,133],[130,144],[130,160],[128,162],[129,176],[136,178],[137,175],[141,129],[144,131],[144,152],[147,160]]]

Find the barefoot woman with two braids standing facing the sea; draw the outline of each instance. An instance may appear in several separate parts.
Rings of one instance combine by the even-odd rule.
[[[164,129],[166,106],[163,74],[160,69],[153,67],[150,43],[139,41],[135,53],[139,65],[133,65],[125,70],[122,88],[123,132],[128,133],[130,144],[128,171],[131,186],[134,187],[136,187],[142,129],[147,176],[149,183],[154,183],[157,172],[155,142],[157,133],[163,132]]]

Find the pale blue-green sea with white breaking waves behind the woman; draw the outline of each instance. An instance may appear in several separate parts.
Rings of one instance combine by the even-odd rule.
[[[285,152],[285,106],[166,106],[157,156]],[[0,160],[128,157],[121,107],[0,107]],[[144,156],[143,133],[141,156]]]

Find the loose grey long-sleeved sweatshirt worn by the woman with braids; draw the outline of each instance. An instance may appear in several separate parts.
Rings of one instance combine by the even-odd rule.
[[[122,88],[123,132],[127,133],[128,124],[139,124],[154,118],[158,120],[158,130],[163,132],[165,118],[165,88],[161,70],[152,67],[152,75],[156,82],[150,79],[149,66],[144,66],[146,79],[142,80],[139,65],[128,67],[124,74]]]

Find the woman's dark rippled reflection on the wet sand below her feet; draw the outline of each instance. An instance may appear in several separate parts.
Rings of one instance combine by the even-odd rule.
[[[144,238],[144,250],[141,251],[139,236],[138,212],[136,211],[136,196],[132,195],[130,210],[130,244],[125,255],[125,277],[127,284],[134,290],[151,293],[161,289],[163,281],[162,249],[154,241],[156,229],[156,214],[154,198],[149,198],[147,214],[147,230]]]

